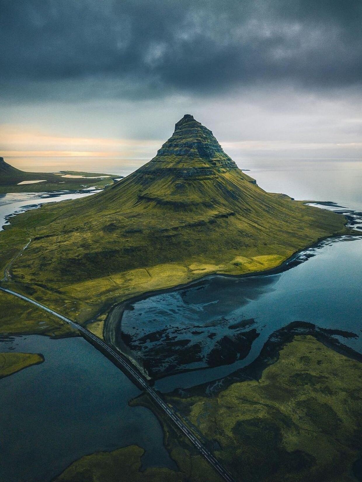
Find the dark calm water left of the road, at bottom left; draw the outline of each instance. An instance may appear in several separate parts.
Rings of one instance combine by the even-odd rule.
[[[0,351],[42,353],[45,361],[0,380],[0,481],[47,482],[83,455],[136,443],[143,467],[175,469],[162,429],[141,392],[83,338],[16,336]]]

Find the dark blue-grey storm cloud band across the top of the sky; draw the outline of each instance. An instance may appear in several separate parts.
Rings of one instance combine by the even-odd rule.
[[[148,98],[362,79],[360,0],[0,0],[8,98]]]

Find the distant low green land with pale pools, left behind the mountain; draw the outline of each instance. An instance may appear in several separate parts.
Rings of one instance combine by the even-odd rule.
[[[74,176],[74,177],[68,177]],[[90,179],[86,179],[89,177]],[[6,192],[37,192],[84,189],[89,186],[104,187],[113,179],[122,176],[98,173],[78,173],[75,171],[61,171],[55,173],[29,173],[16,169],[0,157],[0,194]],[[20,184],[19,183],[23,183]],[[41,181],[41,182],[35,182]]]

